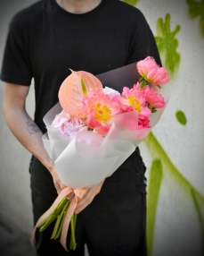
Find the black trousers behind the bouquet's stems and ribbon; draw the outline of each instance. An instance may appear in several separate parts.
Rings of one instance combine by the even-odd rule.
[[[145,166],[139,149],[118,170],[106,178],[94,201],[78,214],[77,249],[66,252],[59,241],[51,240],[53,225],[36,235],[37,255],[90,256],[146,255]],[[50,208],[57,193],[53,178],[37,158],[30,164],[34,223]],[[68,236],[69,248],[69,236]]]

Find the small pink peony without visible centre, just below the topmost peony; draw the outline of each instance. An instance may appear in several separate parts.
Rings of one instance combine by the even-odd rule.
[[[151,107],[160,108],[165,106],[165,100],[158,93],[158,90],[156,88],[150,88],[149,85],[145,85],[143,87],[143,91],[145,92],[146,100],[151,105]]]

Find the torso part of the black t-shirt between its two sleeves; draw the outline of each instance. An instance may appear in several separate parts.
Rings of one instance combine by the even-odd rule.
[[[27,11],[25,44],[35,81],[35,121],[43,132],[43,117],[58,102],[69,69],[96,75],[128,64],[134,33],[131,24],[136,20],[133,9],[135,15],[137,10],[118,2],[102,0],[89,13],[73,14],[55,0],[44,0]]]

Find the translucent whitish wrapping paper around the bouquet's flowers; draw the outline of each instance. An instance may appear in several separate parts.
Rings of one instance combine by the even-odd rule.
[[[117,77],[117,89],[114,77]],[[124,86],[133,87],[139,80],[139,74],[135,64],[130,64],[102,73],[98,78],[103,87],[108,86],[121,92]],[[164,85],[159,93],[167,102],[168,85]],[[57,103],[44,117],[47,132],[43,141],[46,151],[54,161],[61,183],[71,188],[83,188],[100,183],[112,175],[158,123],[164,108],[151,115],[151,128],[137,130],[137,113],[133,111],[118,115],[106,137],[85,128],[70,140],[68,135],[62,135],[51,125],[55,115],[61,112],[60,103]],[[133,126],[135,130],[130,131],[129,127]]]

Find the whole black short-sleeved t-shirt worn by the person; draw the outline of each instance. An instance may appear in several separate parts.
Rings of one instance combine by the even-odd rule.
[[[94,75],[153,56],[160,64],[150,27],[137,8],[102,0],[94,10],[74,14],[55,0],[41,0],[17,13],[10,23],[1,80],[29,86],[34,78],[35,122],[58,101],[69,69]]]

